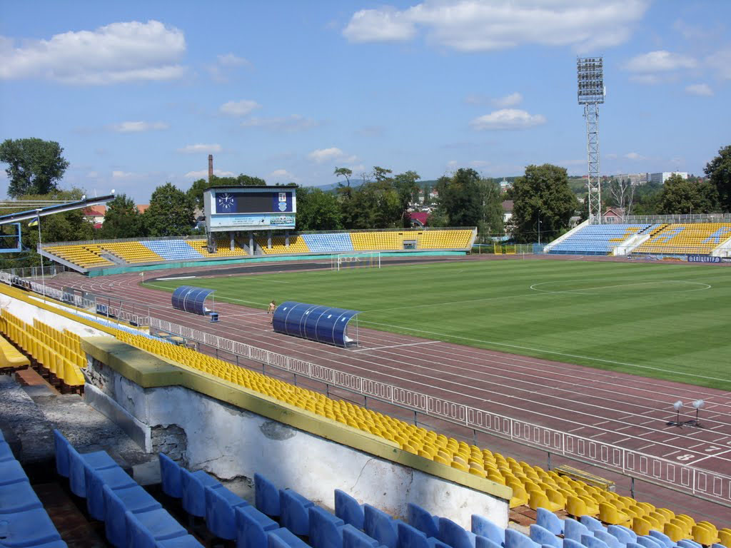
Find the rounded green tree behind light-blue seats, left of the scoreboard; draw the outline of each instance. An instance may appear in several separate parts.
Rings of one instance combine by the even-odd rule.
[[[172,183],[158,186],[143,214],[151,236],[189,235],[193,227],[194,204],[191,197]]]

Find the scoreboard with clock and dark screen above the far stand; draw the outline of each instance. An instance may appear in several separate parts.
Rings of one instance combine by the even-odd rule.
[[[203,193],[208,232],[294,229],[293,186],[212,186]]]

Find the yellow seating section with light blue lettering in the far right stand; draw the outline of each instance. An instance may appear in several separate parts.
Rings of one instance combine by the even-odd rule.
[[[710,254],[731,238],[731,224],[668,224],[632,254]]]

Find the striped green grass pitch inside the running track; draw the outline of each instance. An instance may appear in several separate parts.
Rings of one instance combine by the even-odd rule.
[[[363,327],[731,390],[727,267],[528,259],[145,285],[353,308]]]

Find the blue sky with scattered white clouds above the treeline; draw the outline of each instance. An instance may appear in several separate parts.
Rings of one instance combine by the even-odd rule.
[[[603,56],[602,174],[700,175],[731,144],[730,25],[727,0],[0,0],[0,140],[59,142],[62,188],[138,203],[209,153],[303,186],[583,175],[576,58]]]

